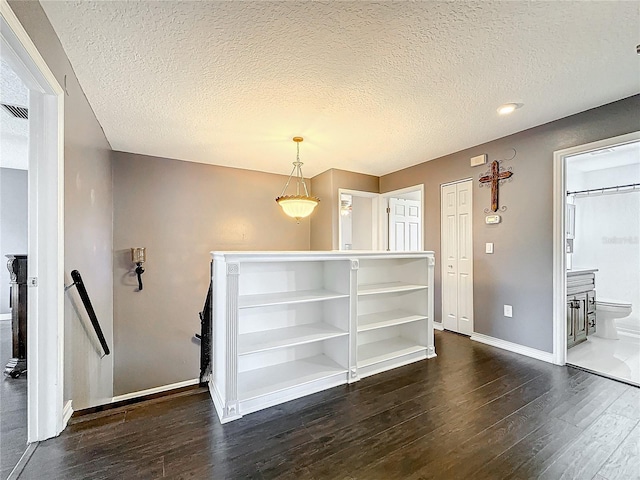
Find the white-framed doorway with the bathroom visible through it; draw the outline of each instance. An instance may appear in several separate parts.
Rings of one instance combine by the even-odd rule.
[[[554,358],[640,385],[640,134],[555,161]]]

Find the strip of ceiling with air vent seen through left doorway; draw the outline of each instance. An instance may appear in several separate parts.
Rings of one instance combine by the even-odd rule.
[[[4,60],[0,60],[0,103],[29,107],[29,91]],[[29,167],[29,122],[0,107],[0,167]]]

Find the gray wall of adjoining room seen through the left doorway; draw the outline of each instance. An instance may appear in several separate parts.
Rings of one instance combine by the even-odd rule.
[[[0,313],[9,310],[9,270],[5,255],[27,253],[26,170],[0,168]]]

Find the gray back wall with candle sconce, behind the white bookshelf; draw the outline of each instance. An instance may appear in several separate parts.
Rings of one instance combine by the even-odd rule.
[[[309,220],[296,224],[276,204],[281,175],[114,152],[113,180],[114,394],[121,395],[198,377],[192,338],[212,250],[308,250]],[[141,292],[131,247],[147,249]]]

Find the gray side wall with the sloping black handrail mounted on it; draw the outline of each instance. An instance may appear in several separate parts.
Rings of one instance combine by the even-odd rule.
[[[60,85],[66,85],[65,276],[71,283],[71,270],[82,273],[107,342],[113,345],[111,148],[40,4],[9,4]],[[65,299],[64,396],[73,400],[75,410],[110,401],[113,389],[113,356],[100,358],[95,335],[78,305],[75,289],[69,290]]]

